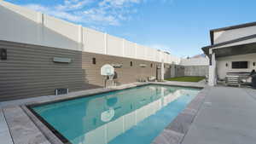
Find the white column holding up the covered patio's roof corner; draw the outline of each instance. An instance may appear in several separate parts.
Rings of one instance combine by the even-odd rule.
[[[217,78],[216,78],[216,59],[215,59],[215,53],[212,52],[212,49],[210,49],[210,55],[211,57],[211,63],[209,66],[209,78],[208,78],[208,84],[210,86],[214,86],[217,84]]]

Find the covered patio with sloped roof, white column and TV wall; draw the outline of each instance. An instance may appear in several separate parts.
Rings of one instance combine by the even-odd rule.
[[[217,43],[202,48],[210,59],[209,85],[214,86],[218,80],[224,80],[229,72],[250,73],[256,69],[256,35],[241,37],[224,43]],[[247,68],[231,67],[234,61],[247,61]]]

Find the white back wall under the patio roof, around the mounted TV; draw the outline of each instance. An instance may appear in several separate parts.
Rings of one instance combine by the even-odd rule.
[[[253,62],[256,62],[256,53],[248,55],[233,55],[217,58],[217,77],[218,79],[224,79],[227,72],[251,72],[256,70],[256,66],[253,66]],[[248,61],[247,69],[232,69],[232,61]],[[228,64],[228,66],[226,66]]]

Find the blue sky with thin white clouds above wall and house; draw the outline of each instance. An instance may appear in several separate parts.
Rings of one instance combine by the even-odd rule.
[[[209,30],[255,21],[255,0],[5,0],[62,20],[187,57]]]

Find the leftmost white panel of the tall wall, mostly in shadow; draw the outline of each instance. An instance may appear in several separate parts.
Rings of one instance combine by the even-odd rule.
[[[3,1],[0,3],[0,39],[38,44],[38,38],[35,37],[38,36],[38,13],[24,8],[15,9],[12,4]]]

